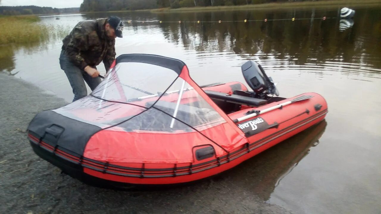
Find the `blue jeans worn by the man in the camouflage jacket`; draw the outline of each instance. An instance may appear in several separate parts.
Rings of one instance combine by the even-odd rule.
[[[59,64],[61,65],[61,69],[66,73],[67,79],[72,86],[74,94],[73,102],[87,96],[85,81],[92,91],[101,83],[100,77],[93,78],[84,70],[75,66],[69,57],[66,56],[64,50],[61,51],[61,55],[59,56]],[[96,67],[94,68],[96,69]]]

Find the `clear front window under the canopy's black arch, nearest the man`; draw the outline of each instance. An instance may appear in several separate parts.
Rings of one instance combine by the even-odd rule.
[[[177,77],[173,70],[158,65],[120,62],[92,95],[107,101],[150,107],[146,101],[156,101]]]

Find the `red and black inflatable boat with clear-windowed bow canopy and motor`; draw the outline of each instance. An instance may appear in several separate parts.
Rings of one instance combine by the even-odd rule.
[[[198,86],[182,61],[124,54],[89,96],[38,113],[28,139],[38,156],[91,185],[183,184],[325,118],[319,94],[282,98],[259,64],[241,68],[246,83]]]

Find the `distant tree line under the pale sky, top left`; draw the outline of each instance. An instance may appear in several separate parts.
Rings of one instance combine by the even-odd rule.
[[[51,8],[39,6],[0,6],[1,15],[31,15],[78,13],[79,8]]]

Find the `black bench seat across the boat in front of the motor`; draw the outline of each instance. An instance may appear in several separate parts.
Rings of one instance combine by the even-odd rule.
[[[249,106],[260,106],[260,105],[267,104],[267,100],[258,99],[254,97],[247,97],[247,96],[242,96],[237,94],[226,95],[226,93],[222,93],[218,91],[209,91],[209,90],[205,90],[205,93],[208,94],[208,96],[212,99],[232,102],[235,104],[249,105]]]

